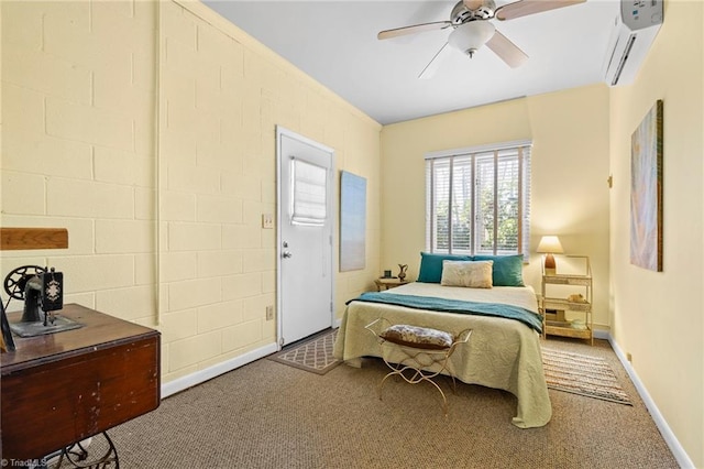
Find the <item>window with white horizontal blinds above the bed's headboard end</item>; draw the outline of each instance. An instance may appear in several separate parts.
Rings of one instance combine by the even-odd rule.
[[[426,249],[528,259],[530,142],[426,156]]]

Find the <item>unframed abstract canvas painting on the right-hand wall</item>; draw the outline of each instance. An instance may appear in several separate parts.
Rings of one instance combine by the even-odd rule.
[[[630,263],[662,271],[662,100],[630,139]]]

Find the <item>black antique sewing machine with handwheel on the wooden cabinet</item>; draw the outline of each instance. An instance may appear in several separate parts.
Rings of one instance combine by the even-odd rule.
[[[22,318],[10,323],[10,329],[19,337],[77,329],[82,325],[54,312],[64,307],[64,274],[54,268],[23,265],[4,279],[4,290],[11,298],[24,301]]]

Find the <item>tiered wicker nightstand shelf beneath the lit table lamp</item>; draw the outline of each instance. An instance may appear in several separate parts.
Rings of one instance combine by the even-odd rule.
[[[584,274],[546,274],[542,272],[542,295],[540,298],[540,313],[543,320],[544,336],[561,336],[588,340],[594,343],[592,325],[592,268],[590,259],[585,255],[572,255],[570,258],[583,259]],[[578,292],[570,295],[582,295],[579,301],[556,296],[556,287],[574,286]],[[552,295],[552,296],[551,296]],[[568,320],[565,313],[576,315],[578,319]]]

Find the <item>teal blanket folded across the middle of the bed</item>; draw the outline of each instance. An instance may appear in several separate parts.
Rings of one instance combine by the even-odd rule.
[[[518,320],[526,326],[542,332],[540,315],[513,305],[498,303],[464,302],[460,299],[439,298],[417,295],[399,295],[386,292],[362,293],[356,298],[346,302],[383,303],[387,305],[405,306],[414,309],[428,309],[444,313],[470,314],[477,316],[493,316]]]

